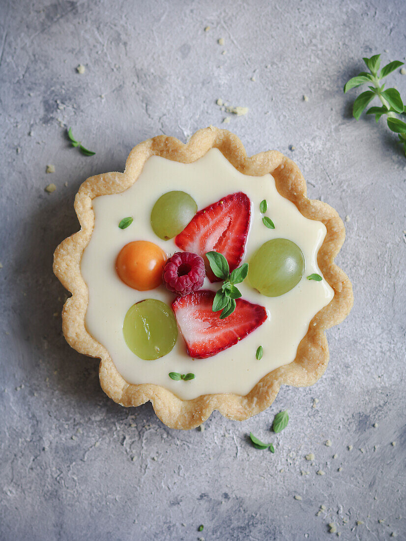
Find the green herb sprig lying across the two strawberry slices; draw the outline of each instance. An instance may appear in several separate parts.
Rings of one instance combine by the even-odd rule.
[[[236,283],[241,283],[243,280],[245,280],[245,278],[247,278],[248,263],[243,263],[241,267],[234,269],[234,271],[230,273],[228,261],[225,259],[223,254],[219,254],[218,252],[208,252],[206,257],[209,261],[211,270],[214,272],[217,278],[224,280],[223,285],[220,289],[218,289],[216,295],[214,296],[212,306],[213,312],[219,312],[222,310],[220,319],[224,319],[232,314],[236,309],[237,303],[235,299],[239,299],[241,297],[241,292],[235,285]]]

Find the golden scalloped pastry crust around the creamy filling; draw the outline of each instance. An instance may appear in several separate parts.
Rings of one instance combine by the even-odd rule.
[[[80,263],[94,228],[92,199],[124,192],[137,180],[150,156],[191,163],[211,148],[218,148],[241,173],[252,176],[270,173],[278,192],[292,201],[303,216],[324,223],[327,235],[318,252],[317,263],[325,280],[334,289],[334,297],[311,320],[309,330],[297,348],[295,360],[268,373],[247,395],[205,394],[193,400],[182,400],[159,385],[129,384],[117,372],[107,349],[86,331],[89,295]],[[165,425],[188,430],[202,424],[213,410],[229,419],[247,419],[270,406],[281,385],[304,387],[321,377],[329,360],[325,330],[345,319],[352,307],[353,296],[348,276],[334,264],[344,242],[344,224],[335,209],[327,203],[307,199],[306,193],[303,175],[289,158],[276,150],[248,157],[236,135],[214,127],[197,131],[187,144],[164,135],[144,141],[131,150],[124,173],[96,175],[83,182],[75,198],[81,230],[65,239],[55,250],[54,273],[72,293],[62,311],[66,341],[79,353],[101,359],[100,383],[110,398],[122,406],[139,406],[150,400],[156,415]]]

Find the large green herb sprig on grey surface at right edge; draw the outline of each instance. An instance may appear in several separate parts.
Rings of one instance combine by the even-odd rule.
[[[367,65],[369,72],[361,71],[356,77],[352,77],[344,85],[344,94],[351,88],[361,87],[363,84],[368,84],[369,90],[360,94],[352,106],[352,115],[358,120],[367,105],[377,96],[382,107],[370,107],[366,111],[366,115],[375,115],[375,121],[383,115],[387,115],[387,124],[391,131],[398,134],[398,138],[402,144],[403,151],[406,155],[406,123],[397,117],[398,114],[406,113],[406,107],[403,104],[401,95],[396,88],[387,88],[384,90],[385,83],[381,85],[382,79],[387,77],[392,71],[400,68],[403,62],[394,60],[385,65],[378,74],[380,68],[381,55],[374,55],[371,58],[363,58],[362,60]],[[371,84],[372,83],[372,84]]]

